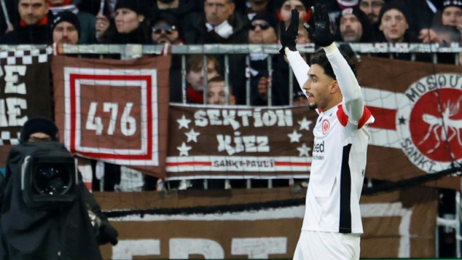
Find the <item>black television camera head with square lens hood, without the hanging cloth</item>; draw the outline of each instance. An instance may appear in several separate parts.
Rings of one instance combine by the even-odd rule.
[[[61,143],[13,146],[8,158],[7,174],[8,170],[13,174],[21,173],[21,192],[29,207],[58,206],[75,200],[77,159]]]

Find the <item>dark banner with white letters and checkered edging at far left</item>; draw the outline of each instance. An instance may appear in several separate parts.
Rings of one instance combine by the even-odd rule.
[[[23,124],[32,117],[53,118],[50,89],[52,49],[0,52],[0,165],[19,144]]]

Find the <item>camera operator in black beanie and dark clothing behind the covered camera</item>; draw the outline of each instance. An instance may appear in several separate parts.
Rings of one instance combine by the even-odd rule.
[[[47,151],[47,147],[52,150]],[[115,245],[118,234],[87,190],[80,173],[69,171],[78,177],[73,181],[72,199],[65,202],[34,205],[36,201],[30,202],[24,195],[29,183],[23,180],[27,174],[24,168],[29,161],[34,162],[30,158],[38,152],[68,155],[74,166],[69,169],[75,169],[72,155],[58,143],[54,122],[37,117],[24,124],[20,144],[13,146],[8,155],[5,176],[0,174],[0,260],[102,259],[99,244]]]

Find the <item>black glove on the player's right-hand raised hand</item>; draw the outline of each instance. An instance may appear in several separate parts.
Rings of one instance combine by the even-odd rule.
[[[307,30],[311,41],[318,46],[326,47],[334,42],[334,36],[330,31],[329,14],[324,5],[321,6],[320,3],[315,5],[313,18]]]

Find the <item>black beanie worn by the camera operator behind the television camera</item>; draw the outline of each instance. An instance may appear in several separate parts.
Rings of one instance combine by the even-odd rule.
[[[29,140],[29,136],[33,133],[42,132],[49,135],[53,141],[58,141],[58,127],[56,124],[45,117],[35,117],[26,121],[21,129],[20,143],[25,143]]]

